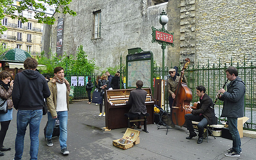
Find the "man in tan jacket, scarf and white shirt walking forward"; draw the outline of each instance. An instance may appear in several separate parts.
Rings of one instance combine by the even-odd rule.
[[[64,78],[64,69],[56,67],[53,70],[54,77],[48,82],[51,95],[47,98],[48,124],[46,128],[46,144],[53,146],[52,132],[56,119],[60,121],[60,149],[63,155],[68,155],[67,149],[67,124],[68,124],[68,102],[70,84]]]

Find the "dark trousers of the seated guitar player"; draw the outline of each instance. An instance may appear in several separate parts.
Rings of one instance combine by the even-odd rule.
[[[198,137],[203,137],[204,128],[205,128],[205,127],[207,126],[207,124],[208,124],[207,119],[206,119],[205,117],[203,117],[203,119],[202,119],[202,117],[203,117],[203,115],[200,117],[199,115],[193,115],[192,113],[185,115],[185,120],[186,120],[187,129],[188,129],[190,132],[191,132],[191,131],[194,131],[192,121],[199,122],[199,124],[197,124],[197,128],[198,128]]]

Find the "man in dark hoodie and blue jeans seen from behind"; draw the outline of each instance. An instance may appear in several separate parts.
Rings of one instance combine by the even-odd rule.
[[[16,74],[12,102],[17,113],[17,135],[15,140],[15,160],[21,159],[24,146],[24,136],[29,124],[30,159],[36,160],[39,147],[39,126],[43,115],[44,98],[51,95],[43,75],[36,71],[37,61],[27,58],[24,61],[25,70]]]

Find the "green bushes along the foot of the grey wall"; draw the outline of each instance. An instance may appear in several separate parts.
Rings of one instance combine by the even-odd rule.
[[[94,60],[88,60],[88,55],[84,52],[83,46],[78,47],[76,52],[76,60],[73,55],[68,55],[66,52],[63,56],[52,56],[51,59],[44,57],[44,52],[41,53],[41,57],[37,57],[38,63],[47,66],[47,70],[42,73],[53,73],[55,67],[62,67],[67,73],[76,74],[92,74],[95,68]]]

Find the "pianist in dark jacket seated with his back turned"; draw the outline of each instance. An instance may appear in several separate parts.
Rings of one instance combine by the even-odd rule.
[[[138,80],[136,82],[136,89],[130,92],[129,100],[125,101],[127,105],[132,105],[129,113],[134,114],[146,114],[147,108],[145,105],[147,91],[141,89],[143,86],[143,82]],[[131,128],[133,129],[133,124],[131,124]],[[138,128],[141,129],[141,122],[139,122]]]

